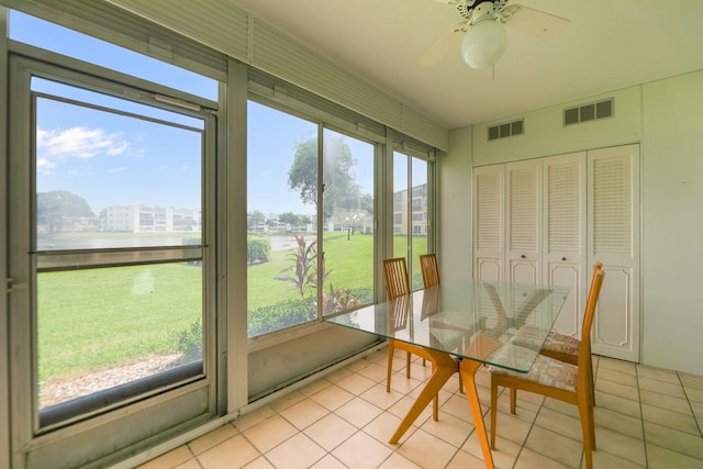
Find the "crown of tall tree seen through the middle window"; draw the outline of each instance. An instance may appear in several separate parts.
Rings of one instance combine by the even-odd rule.
[[[353,168],[356,160],[342,136],[325,135],[323,150],[323,215],[328,219],[335,209],[356,211],[360,188]],[[288,170],[288,186],[300,192],[305,204],[317,204],[317,138],[298,144],[293,164]]]

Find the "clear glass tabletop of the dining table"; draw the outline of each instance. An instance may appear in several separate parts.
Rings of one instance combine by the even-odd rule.
[[[568,294],[566,287],[451,281],[327,321],[526,372]]]

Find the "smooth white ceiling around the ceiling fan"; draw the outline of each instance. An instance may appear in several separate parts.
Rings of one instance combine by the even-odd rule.
[[[494,76],[458,47],[420,65],[460,21],[438,0],[233,1],[447,129],[703,69],[703,0],[511,1],[570,24],[547,42],[507,27]]]

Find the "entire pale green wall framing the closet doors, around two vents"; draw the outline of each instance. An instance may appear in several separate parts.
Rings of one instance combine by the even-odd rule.
[[[611,97],[613,118],[562,125],[563,108]],[[489,125],[521,118],[524,135],[488,142]],[[451,132],[438,159],[443,277],[470,272],[467,166],[640,143],[641,362],[703,375],[702,131],[703,70]]]

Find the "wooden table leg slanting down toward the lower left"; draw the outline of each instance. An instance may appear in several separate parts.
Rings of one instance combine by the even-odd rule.
[[[389,443],[393,445],[400,440],[405,432],[408,432],[408,428],[410,428],[422,411],[427,406],[427,404],[429,404],[429,401],[437,395],[444,384],[449,380],[449,378],[451,378],[451,375],[459,370],[457,360],[448,354],[423,348],[419,350],[416,355],[420,355],[432,362],[432,376],[415,400],[413,406],[408,411],[405,418],[403,418],[393,436],[391,436]]]

